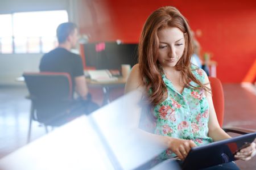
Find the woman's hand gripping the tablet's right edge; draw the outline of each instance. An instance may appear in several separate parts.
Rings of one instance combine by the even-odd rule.
[[[255,154],[256,154],[256,149],[255,149],[255,143],[253,142],[251,143],[250,146],[247,146],[246,148],[243,148],[242,150],[237,152],[237,154],[235,155],[235,158],[247,161],[253,158]]]

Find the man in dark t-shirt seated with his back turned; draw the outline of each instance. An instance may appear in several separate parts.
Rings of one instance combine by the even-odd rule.
[[[40,61],[40,71],[69,73],[73,83],[73,94],[76,91],[80,97],[77,104],[82,104],[85,112],[90,113],[97,109],[97,104],[88,100],[88,87],[84,76],[82,59],[79,55],[70,52],[75,48],[78,40],[77,26],[74,23],[62,23],[57,28],[59,46],[44,54]]]

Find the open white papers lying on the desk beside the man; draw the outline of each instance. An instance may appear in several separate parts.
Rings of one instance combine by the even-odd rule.
[[[109,70],[89,70],[88,74],[90,79],[97,82],[112,82],[117,80],[117,77],[113,77]]]

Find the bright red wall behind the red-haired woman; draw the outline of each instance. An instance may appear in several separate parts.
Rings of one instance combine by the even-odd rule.
[[[156,8],[177,7],[199,32],[197,40],[203,52],[213,54],[217,76],[222,82],[241,82],[256,59],[256,1],[184,1],[184,0],[86,0],[80,2],[82,33],[90,41],[138,42],[143,24]],[[88,4],[91,16],[83,8]],[[88,10],[86,11],[88,14]],[[86,22],[86,17],[94,21]]]

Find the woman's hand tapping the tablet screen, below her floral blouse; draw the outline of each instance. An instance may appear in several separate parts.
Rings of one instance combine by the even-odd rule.
[[[170,149],[174,152],[181,160],[184,160],[188,155],[188,152],[196,144],[191,140],[172,138],[170,143]]]

